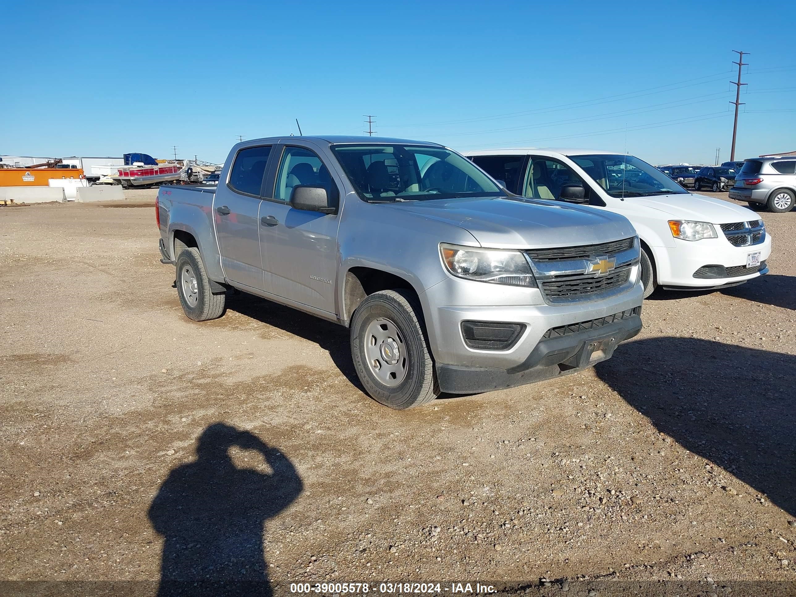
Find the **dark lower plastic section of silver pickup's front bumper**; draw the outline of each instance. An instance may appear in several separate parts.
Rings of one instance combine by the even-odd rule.
[[[611,358],[620,342],[642,330],[640,313],[641,307],[636,307],[618,321],[589,330],[569,330],[575,326],[563,326],[565,330],[552,328],[525,361],[511,369],[437,363],[439,389],[451,394],[490,392],[586,369]]]

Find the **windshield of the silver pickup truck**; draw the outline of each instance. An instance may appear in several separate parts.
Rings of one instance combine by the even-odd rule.
[[[364,201],[427,201],[506,197],[473,162],[443,147],[362,144],[332,146]]]

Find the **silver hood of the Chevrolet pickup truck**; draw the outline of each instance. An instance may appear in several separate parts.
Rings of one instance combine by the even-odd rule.
[[[560,201],[476,197],[396,203],[389,209],[464,228],[482,247],[572,247],[636,234],[623,216]]]

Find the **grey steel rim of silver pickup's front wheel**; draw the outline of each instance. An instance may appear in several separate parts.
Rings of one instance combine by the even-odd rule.
[[[395,322],[377,318],[365,330],[365,356],[370,372],[381,384],[395,388],[409,370],[408,347]]]

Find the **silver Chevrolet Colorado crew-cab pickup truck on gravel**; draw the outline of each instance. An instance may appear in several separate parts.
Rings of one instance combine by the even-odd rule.
[[[162,186],[156,213],[189,318],[236,288],[347,326],[391,408],[571,373],[642,327],[628,220],[517,197],[435,143],[238,143],[217,187]]]

